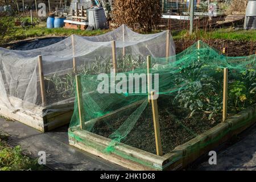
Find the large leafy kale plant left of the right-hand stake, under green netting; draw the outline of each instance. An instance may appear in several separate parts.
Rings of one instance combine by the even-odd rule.
[[[177,92],[174,104],[191,110],[189,117],[196,111],[203,111],[212,119],[222,109],[221,72],[221,69],[209,67],[200,61],[192,61],[175,78],[175,82],[184,82],[185,85]]]

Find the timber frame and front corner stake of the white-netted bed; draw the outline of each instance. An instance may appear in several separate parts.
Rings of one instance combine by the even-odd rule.
[[[38,89],[40,90],[42,106],[31,104],[30,102],[23,101],[17,97],[9,96],[12,105],[26,104],[29,108],[32,108],[32,110],[23,111],[18,109],[13,111],[6,106],[0,105],[0,115],[24,123],[36,130],[47,132],[70,122],[75,98],[69,98],[54,104],[47,104],[45,85],[48,85],[49,83],[43,74],[42,56],[38,56],[38,69],[39,80],[37,85],[40,87]]]

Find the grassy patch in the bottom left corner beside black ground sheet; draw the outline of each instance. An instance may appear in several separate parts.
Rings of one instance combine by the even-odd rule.
[[[0,138],[0,171],[38,171],[43,169],[44,167],[38,164],[38,160],[22,154],[20,146],[12,148]]]

